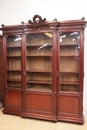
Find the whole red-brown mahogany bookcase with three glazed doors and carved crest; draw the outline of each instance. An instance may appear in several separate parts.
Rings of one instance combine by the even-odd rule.
[[[85,26],[84,19],[48,22],[39,15],[2,25],[4,113],[84,123]]]

